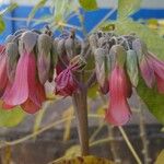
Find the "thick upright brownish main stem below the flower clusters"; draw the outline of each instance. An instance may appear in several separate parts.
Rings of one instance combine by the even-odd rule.
[[[78,133],[82,155],[89,155],[89,131],[87,131],[87,101],[86,91],[82,90],[72,96],[75,117],[78,121]]]

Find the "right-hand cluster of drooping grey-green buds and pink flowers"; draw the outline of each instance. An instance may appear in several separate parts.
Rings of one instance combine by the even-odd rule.
[[[157,85],[159,93],[164,93],[164,61],[150,52],[145,43],[134,34],[118,36],[98,32],[90,36],[90,45],[95,58],[97,82],[101,89],[105,89],[103,93],[109,96],[108,122],[120,126],[129,120],[128,98],[132,87],[138,86],[140,77],[148,87]]]

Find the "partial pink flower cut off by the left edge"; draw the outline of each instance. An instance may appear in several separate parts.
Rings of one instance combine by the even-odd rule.
[[[8,84],[5,47],[0,46],[0,97],[3,95]]]

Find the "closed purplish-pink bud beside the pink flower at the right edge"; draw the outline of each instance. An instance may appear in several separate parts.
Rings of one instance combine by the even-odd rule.
[[[140,62],[140,70],[145,84],[152,89],[155,84],[155,74],[147,57]]]

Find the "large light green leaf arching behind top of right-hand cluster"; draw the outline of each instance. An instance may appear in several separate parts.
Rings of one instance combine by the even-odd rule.
[[[152,51],[155,56],[164,59],[164,39],[148,26],[134,22],[130,19],[125,21],[118,21],[116,23],[116,31],[119,34],[136,33],[142,40],[148,45],[148,49]]]

